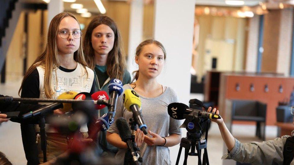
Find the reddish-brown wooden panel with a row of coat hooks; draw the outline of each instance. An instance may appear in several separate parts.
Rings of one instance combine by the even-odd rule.
[[[239,91],[235,89],[236,83],[240,84]],[[251,83],[254,84],[254,92],[249,90]],[[268,92],[264,92],[265,84],[269,87]],[[283,93],[279,93],[280,85],[283,86]],[[267,104],[266,125],[274,125],[276,122],[276,107],[278,106],[278,102],[290,97],[293,86],[294,78],[223,74],[220,82],[220,113],[226,113],[226,99],[258,100]]]

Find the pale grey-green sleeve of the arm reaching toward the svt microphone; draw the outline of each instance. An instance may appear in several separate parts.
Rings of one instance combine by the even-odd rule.
[[[265,142],[241,143],[235,139],[235,146],[222,159],[233,159],[241,163],[283,164],[283,149],[286,139],[282,136]]]

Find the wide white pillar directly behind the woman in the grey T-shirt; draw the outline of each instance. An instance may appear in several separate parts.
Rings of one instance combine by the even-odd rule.
[[[155,0],[154,38],[160,41],[166,51],[165,68],[158,82],[171,87],[179,102],[188,105],[190,96],[192,65],[193,25],[195,0]],[[181,128],[182,136],[186,129]],[[180,145],[170,147],[171,163],[175,164]],[[184,149],[179,164],[183,164]],[[188,158],[188,164],[195,164],[195,157]]]

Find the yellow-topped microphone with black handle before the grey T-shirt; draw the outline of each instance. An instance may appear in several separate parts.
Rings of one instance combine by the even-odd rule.
[[[134,90],[126,89],[124,91],[123,100],[124,106],[128,111],[133,112],[134,120],[139,125],[140,130],[142,130],[146,135],[147,125],[145,124],[141,112],[139,111],[141,107],[141,100],[139,98],[139,95]]]

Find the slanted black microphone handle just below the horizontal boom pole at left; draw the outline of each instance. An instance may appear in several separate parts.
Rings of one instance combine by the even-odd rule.
[[[42,108],[39,108],[39,109],[37,109],[35,111],[31,111],[31,112],[28,112],[26,114],[23,114],[22,117],[24,119],[27,119],[27,118],[30,118],[30,117],[36,117],[38,115],[45,115],[46,113],[52,112],[53,110],[58,109],[58,108],[63,108],[63,105],[62,105],[62,103],[55,102],[55,103],[46,105],[46,106],[44,106]]]

